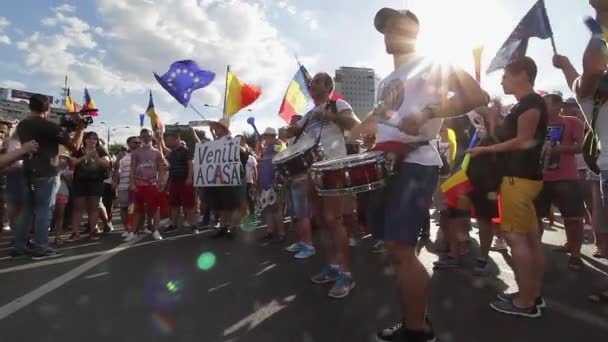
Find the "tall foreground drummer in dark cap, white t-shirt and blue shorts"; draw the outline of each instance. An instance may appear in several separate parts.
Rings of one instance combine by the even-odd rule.
[[[374,19],[384,34],[395,71],[378,87],[379,106],[351,130],[351,139],[376,135],[376,149],[401,155],[385,187],[370,193],[368,225],[383,240],[397,276],[402,317],[378,332],[378,341],[435,341],[427,316],[429,275],[416,257],[416,244],[428,214],[442,165],[429,144],[442,118],[464,115],[485,105],[488,96],[461,70],[416,53],[419,21],[410,11],[381,9]],[[448,97],[449,93],[454,95]],[[410,149],[408,154],[404,150]]]

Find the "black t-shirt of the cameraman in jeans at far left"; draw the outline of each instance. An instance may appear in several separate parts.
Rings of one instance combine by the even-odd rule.
[[[23,168],[32,177],[54,177],[59,174],[59,145],[70,142],[68,133],[59,125],[41,117],[30,116],[17,125],[17,135],[21,143],[31,140],[38,142],[38,152],[25,158]]]

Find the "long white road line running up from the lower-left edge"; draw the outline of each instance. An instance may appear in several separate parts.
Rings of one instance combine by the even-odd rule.
[[[143,239],[143,237],[140,237],[138,239]],[[134,242],[139,241],[138,239],[134,240]],[[39,288],[34,289],[34,290],[26,293],[25,295],[11,301],[10,303],[3,305],[2,307],[0,307],[0,320],[3,320],[6,317],[14,314],[15,312],[23,309],[24,307],[32,304],[36,300],[40,299],[42,296],[45,296],[46,294],[63,286],[65,283],[76,279],[77,277],[81,276],[83,273],[89,271],[90,269],[107,261],[114,255],[129,248],[131,245],[132,245],[132,243],[123,243],[117,247],[114,247],[111,250],[106,251],[104,254],[85,262],[84,264],[51,280],[50,282],[40,286]]]

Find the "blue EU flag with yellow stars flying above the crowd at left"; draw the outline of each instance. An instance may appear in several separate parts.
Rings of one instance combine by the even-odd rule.
[[[154,77],[184,107],[188,106],[192,92],[208,86],[215,78],[215,73],[201,70],[195,61],[177,61],[169,67],[164,75]]]

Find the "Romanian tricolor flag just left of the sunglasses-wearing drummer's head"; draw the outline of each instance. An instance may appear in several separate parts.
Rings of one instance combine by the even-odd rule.
[[[279,116],[285,122],[289,123],[292,116],[296,114],[302,115],[306,111],[308,103],[312,100],[310,97],[311,80],[310,74],[301,65],[293,80],[289,83],[289,87],[287,87],[283,103],[281,103],[281,109],[279,110]]]

